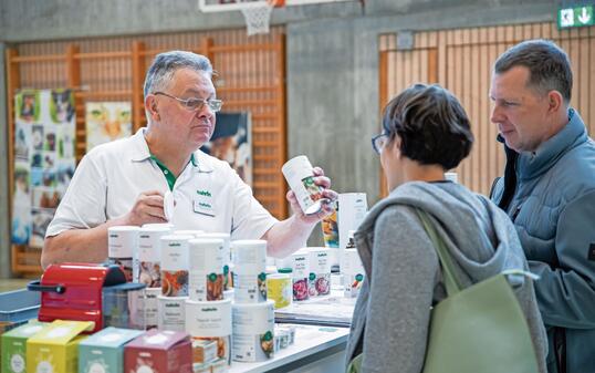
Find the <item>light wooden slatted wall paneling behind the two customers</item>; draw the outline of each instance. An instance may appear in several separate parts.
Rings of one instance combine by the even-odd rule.
[[[554,23],[545,22],[422,32],[416,35],[416,45],[410,52],[389,49],[387,41],[390,40],[390,34],[380,38],[384,41],[382,48],[389,51],[385,54],[387,61],[380,59],[380,69],[388,72],[389,82],[386,86],[380,83],[380,92],[386,91],[386,96],[398,93],[411,80],[431,81],[434,52],[431,49],[421,49],[432,45],[434,39],[438,40],[437,79],[459,97],[473,125],[474,148],[457,170],[461,183],[476,191],[488,194],[493,178],[503,173],[505,163],[502,145],[495,142],[498,128],[490,121],[492,103],[488,93],[492,64],[508,48],[522,40],[536,38],[553,39],[568,53],[575,77],[572,105],[580,111],[593,133],[595,110],[589,105],[595,93],[593,28],[560,31]],[[424,62],[418,56],[426,52],[428,65],[427,75],[424,76],[407,64],[419,64],[425,70]],[[390,68],[393,64],[396,65],[394,72]]]

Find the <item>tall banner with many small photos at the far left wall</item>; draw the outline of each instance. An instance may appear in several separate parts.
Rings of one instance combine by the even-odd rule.
[[[14,96],[14,117],[11,238],[41,248],[76,166],[73,93],[21,91]]]

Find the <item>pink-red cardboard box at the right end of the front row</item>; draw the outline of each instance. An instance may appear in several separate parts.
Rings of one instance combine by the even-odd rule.
[[[192,343],[185,332],[150,330],[124,348],[126,373],[192,373]]]

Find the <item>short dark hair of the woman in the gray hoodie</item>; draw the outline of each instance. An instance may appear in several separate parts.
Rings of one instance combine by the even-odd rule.
[[[455,168],[473,144],[471,125],[457,97],[440,85],[414,84],[385,108],[383,126],[400,152],[422,165]]]

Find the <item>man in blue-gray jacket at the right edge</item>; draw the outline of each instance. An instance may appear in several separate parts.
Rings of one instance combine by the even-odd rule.
[[[595,372],[595,144],[570,107],[566,53],[544,40],[495,62],[491,121],[504,143],[492,199],[514,221],[549,336],[550,372]]]

